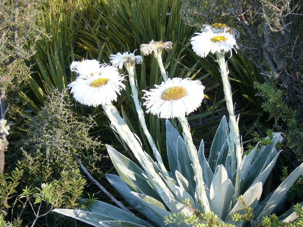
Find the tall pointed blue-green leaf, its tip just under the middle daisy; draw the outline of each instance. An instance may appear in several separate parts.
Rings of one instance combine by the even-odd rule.
[[[168,163],[169,163],[171,175],[174,179],[176,179],[175,171],[176,170],[179,171],[178,157],[176,154],[177,154],[178,137],[180,137],[180,134],[171,125],[169,120],[166,120],[165,123],[166,123],[166,148],[167,148]]]

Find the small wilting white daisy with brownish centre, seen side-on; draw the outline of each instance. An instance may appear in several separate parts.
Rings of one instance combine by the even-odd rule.
[[[140,55],[135,56],[134,53],[128,54],[128,52],[124,52],[123,54],[121,54],[120,52],[118,52],[117,54],[111,54],[110,59],[112,60],[109,62],[112,63],[113,66],[119,69],[122,69],[123,64],[129,64],[131,66],[135,64],[141,64],[142,57]]]

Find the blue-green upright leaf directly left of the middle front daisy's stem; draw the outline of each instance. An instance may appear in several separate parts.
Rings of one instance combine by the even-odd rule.
[[[180,173],[188,180],[188,193],[195,195],[196,182],[194,180],[193,163],[188,153],[187,146],[181,137],[177,141],[177,160]],[[198,161],[198,160],[197,160]]]

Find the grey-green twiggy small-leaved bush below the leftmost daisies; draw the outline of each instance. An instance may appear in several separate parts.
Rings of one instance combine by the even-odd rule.
[[[38,115],[29,119],[27,135],[15,143],[16,150],[22,150],[18,159],[36,160],[41,169],[52,167],[53,174],[58,174],[77,169],[73,157],[77,156],[85,166],[97,170],[94,164],[105,156],[96,152],[101,143],[89,135],[93,117],[78,117],[72,109],[66,90],[51,92]]]

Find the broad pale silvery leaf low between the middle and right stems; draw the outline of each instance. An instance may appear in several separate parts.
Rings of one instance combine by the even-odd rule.
[[[231,201],[234,195],[235,188],[231,180],[225,180],[209,203],[211,211],[218,215],[220,219],[225,220],[231,211]]]

